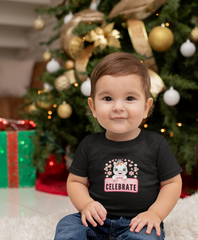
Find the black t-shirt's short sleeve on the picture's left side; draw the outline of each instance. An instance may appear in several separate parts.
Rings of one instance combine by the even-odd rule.
[[[68,171],[80,177],[87,177],[88,162],[87,162],[86,155],[87,155],[87,144],[86,144],[86,138],[84,138],[76,150],[74,159]]]

